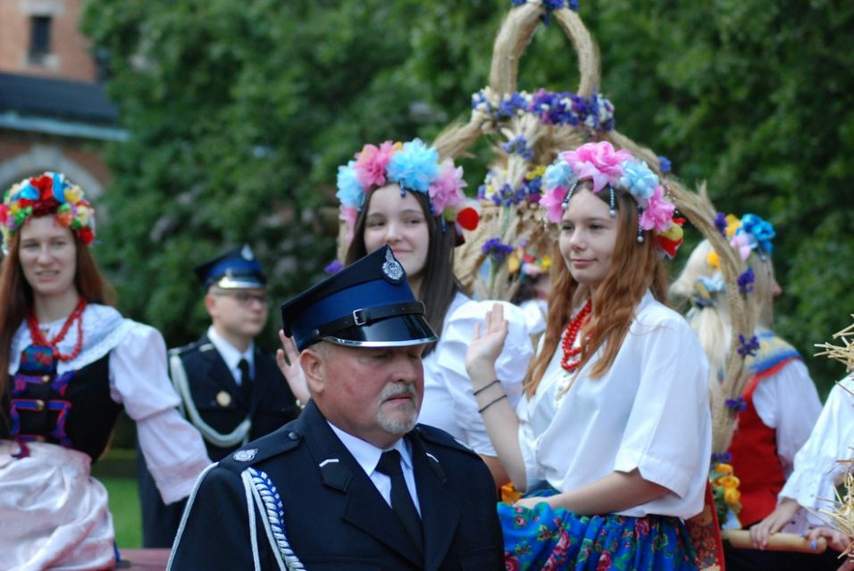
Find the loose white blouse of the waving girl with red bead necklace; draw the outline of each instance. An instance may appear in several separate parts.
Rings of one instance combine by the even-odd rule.
[[[618,512],[691,517],[703,507],[711,455],[708,365],[678,313],[647,292],[614,363],[599,378],[582,368],[568,391],[558,346],[531,399],[519,403],[519,443],[529,490],[561,492],[635,468],[670,492]]]

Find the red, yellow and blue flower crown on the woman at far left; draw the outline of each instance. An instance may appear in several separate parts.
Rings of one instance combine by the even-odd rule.
[[[84,198],[83,189],[72,185],[60,172],[46,172],[25,178],[4,193],[0,204],[4,248],[27,220],[48,214],[77,234],[83,244],[92,244],[95,210]]]

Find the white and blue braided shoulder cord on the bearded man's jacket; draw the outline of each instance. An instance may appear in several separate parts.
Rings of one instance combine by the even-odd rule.
[[[267,534],[267,541],[273,548],[273,554],[279,567],[282,571],[305,571],[302,561],[297,558],[297,554],[291,549],[288,542],[288,536],[285,534],[285,514],[284,507],[281,505],[279,492],[276,490],[276,485],[272,483],[270,476],[262,470],[255,468],[247,468],[241,474],[243,485],[247,490],[247,508],[250,511],[250,523],[253,545],[255,553],[257,552],[257,540],[255,538],[255,511],[252,509],[249,494],[255,499],[255,505],[258,511],[261,512],[261,521],[264,523],[264,531]]]

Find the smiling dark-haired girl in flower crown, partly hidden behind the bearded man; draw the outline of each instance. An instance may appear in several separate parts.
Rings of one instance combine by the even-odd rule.
[[[465,351],[474,324],[483,319],[491,303],[469,299],[454,276],[454,246],[462,240],[463,228],[476,226],[476,213],[464,208],[464,186],[462,167],[455,167],[450,159],[440,161],[436,149],[419,139],[364,145],[338,173],[337,196],[349,242],[345,263],[384,244],[391,246],[415,297],[424,302],[427,321],[440,337],[423,355],[424,396],[418,421],[438,426],[481,454],[497,484],[503,484],[507,476],[495,459],[465,373]],[[522,311],[504,305],[511,325],[498,370],[502,385],[517,400],[533,351]],[[296,362],[292,344],[284,338],[282,343],[289,361]],[[284,352],[279,360],[303,401],[305,387],[291,381],[301,376],[285,364]]]

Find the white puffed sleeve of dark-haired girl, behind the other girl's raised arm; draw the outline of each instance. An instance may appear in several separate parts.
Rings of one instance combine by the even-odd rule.
[[[495,303],[504,306],[504,319],[509,323],[507,341],[495,364],[496,374],[510,405],[515,408],[522,397],[522,382],[533,356],[531,336],[525,326],[524,313],[517,306],[508,302],[473,300],[461,304],[445,320],[442,336],[436,347],[440,375],[453,399],[454,416],[459,429],[458,439],[484,456],[497,456],[497,452],[478,412],[472,382],[465,370],[465,353],[472,343],[474,324],[479,323],[482,327],[487,312]]]

